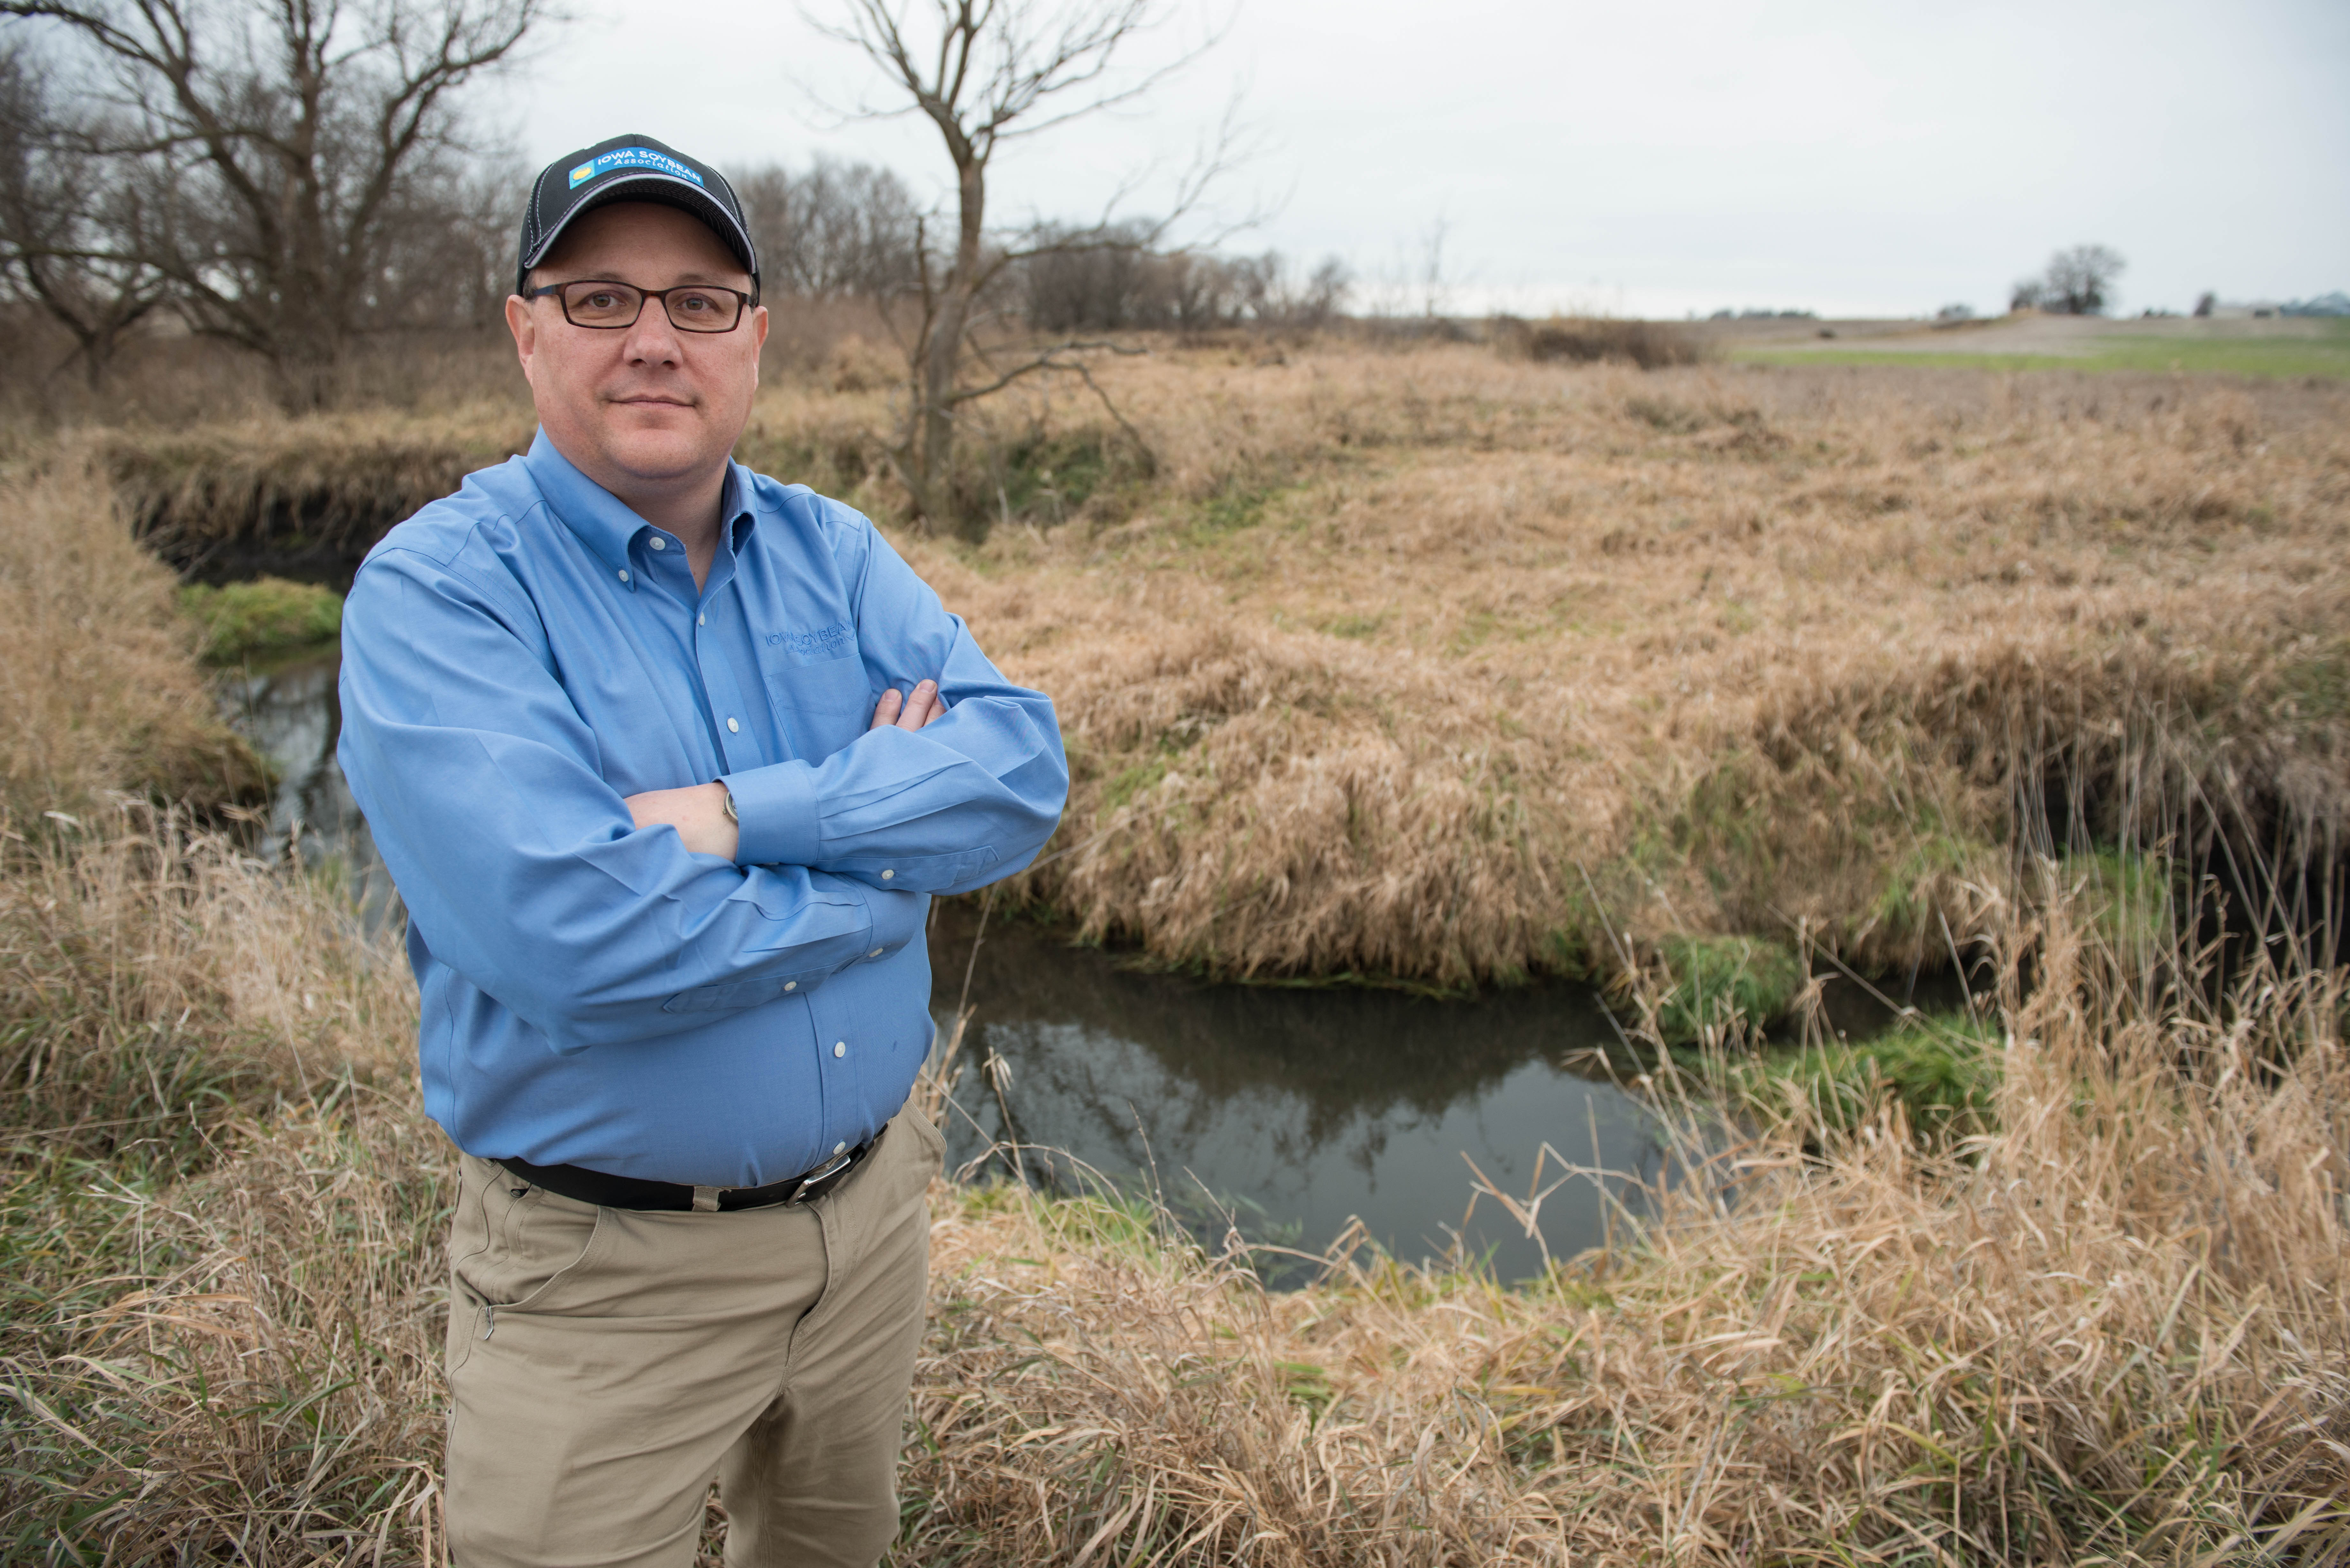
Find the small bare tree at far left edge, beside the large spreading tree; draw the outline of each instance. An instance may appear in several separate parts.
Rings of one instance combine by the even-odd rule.
[[[92,153],[21,49],[0,54],[0,280],[73,334],[92,388],[122,336],[164,303],[146,193]]]

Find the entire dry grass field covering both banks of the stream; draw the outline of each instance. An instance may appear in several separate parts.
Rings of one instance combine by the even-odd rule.
[[[2225,985],[2176,940],[2211,851],[2341,842],[2350,390],[1344,343],[1104,386],[1152,461],[1001,404],[982,545],[898,524],[862,374],[745,442],[1060,703],[1018,891],[1203,971],[1610,978],[1692,1175],[1523,1291],[1354,1248],[1288,1295],[1128,1201],[940,1187],[900,1561],[2350,1561],[2343,973],[2322,926]],[[129,524],[364,522],[515,425],[0,475],[7,1561],[442,1556],[414,990],[221,830]],[[1990,1004],[1760,1072],[1798,947],[1965,952]]]

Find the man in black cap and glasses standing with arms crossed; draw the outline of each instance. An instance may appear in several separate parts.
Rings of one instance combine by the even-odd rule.
[[[451,1556],[872,1563],[940,1135],[924,919],[1067,762],[858,512],[731,463],[759,259],[651,136],[550,165],[505,320],[529,456],[392,529],[341,762],[409,907],[449,1234]]]

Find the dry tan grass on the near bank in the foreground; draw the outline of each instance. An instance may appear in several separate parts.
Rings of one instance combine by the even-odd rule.
[[[308,884],[155,844],[12,884],[9,961],[251,1032],[287,1098],[176,1180],[19,1161],[5,1549],[432,1563],[449,1161],[383,1074],[407,978]],[[1269,1295],[1130,1204],[940,1187],[895,1561],[2343,1561],[2341,976],[2150,1018],[2061,898],[2002,929],[1998,1131],[1807,1152],[1683,1103],[1697,1178],[1528,1291],[1356,1253]]]

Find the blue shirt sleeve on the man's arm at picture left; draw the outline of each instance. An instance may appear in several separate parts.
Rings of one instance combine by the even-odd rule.
[[[912,891],[637,830],[529,607],[423,555],[360,569],[341,701],[343,773],[418,933],[557,1051],[703,1027],[665,1004],[921,940]]]

